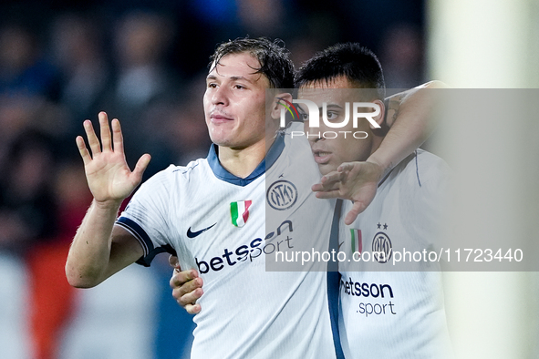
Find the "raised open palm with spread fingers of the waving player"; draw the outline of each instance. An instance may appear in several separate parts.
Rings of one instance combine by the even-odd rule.
[[[84,138],[78,136],[77,146],[84,161],[84,169],[88,187],[98,202],[109,200],[120,201],[130,196],[142,180],[142,174],[150,163],[150,155],[144,154],[137,161],[133,171],[130,170],[123,151],[123,137],[119,120],[111,121],[105,112],[99,112],[101,143],[90,120],[84,121],[84,129],[88,138],[88,151]]]

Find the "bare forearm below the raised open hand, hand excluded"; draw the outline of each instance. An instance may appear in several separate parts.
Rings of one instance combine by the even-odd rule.
[[[92,202],[67,255],[66,275],[71,285],[88,288],[106,279],[111,233],[120,204]]]

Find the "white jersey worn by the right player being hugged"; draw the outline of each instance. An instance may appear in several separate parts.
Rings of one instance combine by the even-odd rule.
[[[347,258],[361,252],[363,260],[339,263],[339,331],[347,359],[451,357],[439,263],[414,262],[410,254],[400,267],[406,272],[383,272],[392,270],[397,251],[437,248],[451,172],[429,152],[416,153],[389,173],[350,226],[342,219],[352,203],[343,206],[340,251]]]

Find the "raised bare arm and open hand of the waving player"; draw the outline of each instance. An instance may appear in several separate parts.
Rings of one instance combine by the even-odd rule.
[[[71,285],[83,288],[98,285],[144,253],[140,242],[114,222],[121,202],[140,184],[150,155],[142,155],[131,171],[119,120],[113,119],[109,126],[105,112],[99,112],[98,118],[100,141],[90,120],[84,121],[89,149],[82,136],[76,139],[94,201],[69,249],[66,276]]]

